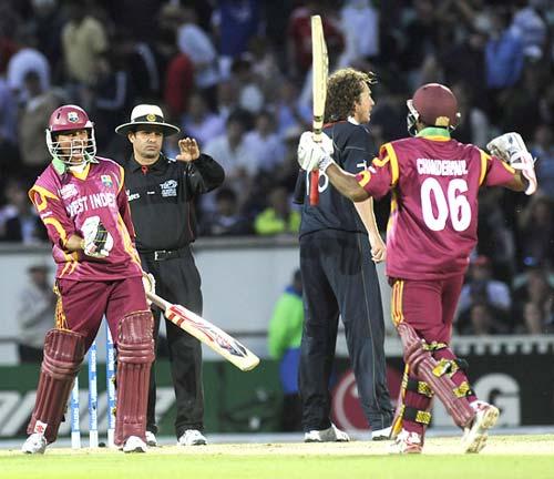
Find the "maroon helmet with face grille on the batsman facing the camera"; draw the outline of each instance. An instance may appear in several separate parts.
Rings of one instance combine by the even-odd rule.
[[[63,152],[60,147],[58,135],[76,130],[86,130],[89,137],[85,142],[76,139],[72,140],[69,146],[68,144],[63,145],[65,150]],[[81,106],[72,104],[60,106],[50,115],[47,129],[47,145],[54,160],[59,160],[66,165],[82,163],[80,161],[72,161],[74,154],[82,154],[85,161],[90,161],[96,154],[94,123],[89,120],[89,115]]]

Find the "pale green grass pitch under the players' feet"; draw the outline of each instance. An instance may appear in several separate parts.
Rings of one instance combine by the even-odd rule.
[[[387,444],[248,444],[144,455],[51,448],[44,456],[0,450],[2,479],[552,479],[554,435],[493,436],[480,455],[461,455],[459,438],[432,438],[422,456],[388,456]]]

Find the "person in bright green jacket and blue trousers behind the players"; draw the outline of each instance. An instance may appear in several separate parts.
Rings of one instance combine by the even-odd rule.
[[[279,360],[279,378],[283,388],[281,428],[300,431],[302,406],[298,394],[298,363],[304,326],[302,281],[297,269],[293,283],[277,300],[267,342],[269,356]]]

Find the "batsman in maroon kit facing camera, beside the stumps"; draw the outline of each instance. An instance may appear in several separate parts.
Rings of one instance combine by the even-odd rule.
[[[93,123],[76,105],[52,113],[47,144],[52,162],[29,197],[52,242],[58,305],[22,451],[43,453],[57,439],[73,380],[105,315],[117,348],[115,445],[145,452],[153,319],[123,169],[96,156]]]

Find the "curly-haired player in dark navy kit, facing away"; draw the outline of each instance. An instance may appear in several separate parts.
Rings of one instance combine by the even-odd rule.
[[[368,130],[373,101],[370,75],[353,69],[334,73],[327,85],[325,132],[334,159],[356,173],[372,159]],[[332,150],[332,147],[331,147]],[[309,188],[306,188],[309,191]],[[386,380],[384,323],[375,263],[384,258],[372,203],[352,203],[328,179],[319,181],[319,204],[304,202],[300,269],[305,324],[300,346],[299,389],[305,441],[347,441],[330,422],[329,378],[339,315],[361,407],[373,440],[388,439],[392,406]],[[369,238],[368,238],[369,234]]]

